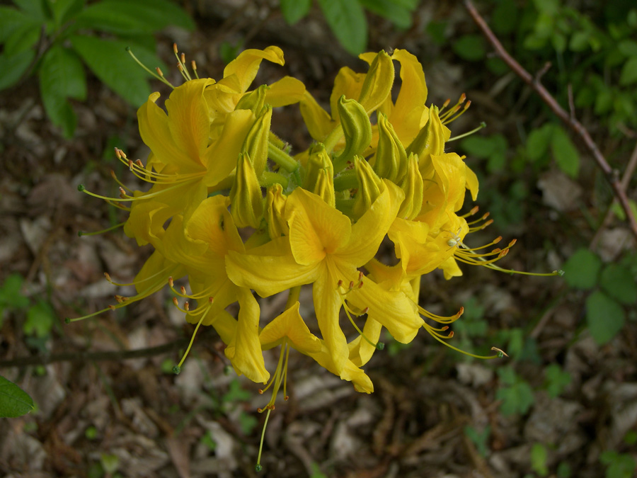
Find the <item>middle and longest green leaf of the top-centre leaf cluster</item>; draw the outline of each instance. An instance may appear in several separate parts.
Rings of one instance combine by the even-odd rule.
[[[328,25],[341,45],[352,55],[367,47],[367,18],[357,0],[319,0]]]

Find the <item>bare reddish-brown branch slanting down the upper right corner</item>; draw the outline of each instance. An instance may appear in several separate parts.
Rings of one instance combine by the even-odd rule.
[[[570,115],[566,113],[566,110],[564,110],[564,108],[559,105],[559,103],[556,101],[555,98],[553,98],[553,96],[551,96],[551,93],[549,93],[549,91],[547,91],[546,88],[544,88],[544,86],[542,86],[539,81],[534,79],[533,76],[529,74],[529,72],[527,72],[527,70],[525,70],[522,65],[520,65],[520,63],[516,62],[515,59],[507,53],[507,50],[505,50],[505,48],[502,46],[502,43],[500,43],[500,40],[498,40],[498,38],[490,30],[490,28],[484,21],[484,18],[480,16],[480,13],[478,13],[476,7],[474,7],[474,4],[471,3],[471,0],[464,0],[464,6],[467,11],[469,11],[471,18],[474,19],[478,27],[480,27],[480,29],[482,30],[483,35],[493,46],[498,56],[503,59],[508,67],[512,69],[515,74],[517,74],[517,76],[520,76],[520,78],[524,80],[524,82],[528,84],[539,95],[542,101],[544,101],[544,103],[546,103],[546,105],[551,108],[553,113],[555,113],[565,125],[568,125],[571,130],[573,130],[582,138],[586,149],[588,150],[588,152],[590,152],[590,154],[592,154],[592,157],[595,159],[597,166],[602,169],[606,180],[613,188],[616,199],[621,205],[621,208],[626,213],[626,219],[629,222],[631,231],[637,238],[637,222],[635,220],[635,217],[633,216],[633,212],[631,211],[626,192],[624,188],[621,187],[621,182],[619,181],[619,172],[613,170],[611,166],[609,166],[608,161],[606,161],[604,155],[602,155],[602,152],[599,151],[597,144],[595,144],[595,142],[592,140],[586,128],[583,127],[583,125],[574,117],[571,118]]]

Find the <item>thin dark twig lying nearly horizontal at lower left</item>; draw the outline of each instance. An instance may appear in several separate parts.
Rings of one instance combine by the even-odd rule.
[[[128,360],[131,358],[152,357],[162,353],[172,352],[188,345],[188,338],[179,338],[161,346],[137,348],[132,351],[112,352],[65,352],[54,355],[34,355],[32,357],[1,360],[0,367],[26,367],[28,365],[47,365],[54,362],[98,362],[101,360]]]

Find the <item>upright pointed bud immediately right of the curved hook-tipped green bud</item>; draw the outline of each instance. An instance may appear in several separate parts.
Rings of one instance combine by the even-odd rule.
[[[400,183],[407,171],[405,148],[398,140],[394,127],[382,113],[378,116],[378,147],[369,164],[372,164],[378,176],[396,184]]]

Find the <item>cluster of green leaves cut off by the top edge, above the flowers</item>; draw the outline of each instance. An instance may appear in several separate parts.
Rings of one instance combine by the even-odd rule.
[[[311,0],[279,0],[285,21],[294,25],[310,11]],[[409,28],[412,12],[419,0],[319,0],[319,6],[332,32],[352,55],[367,47],[365,10],[387,18],[398,28]]]

